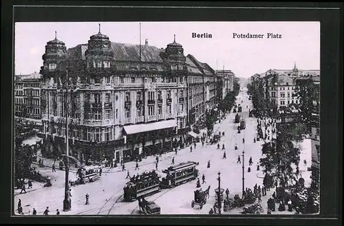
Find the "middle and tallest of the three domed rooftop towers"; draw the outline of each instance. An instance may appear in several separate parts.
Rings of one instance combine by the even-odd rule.
[[[111,47],[111,41],[105,34],[100,33],[100,24],[98,34],[89,37],[88,49],[85,52],[87,67],[111,67],[114,60],[114,52]]]

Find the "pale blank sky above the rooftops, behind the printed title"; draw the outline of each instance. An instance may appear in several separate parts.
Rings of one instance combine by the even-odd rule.
[[[320,22],[20,22],[14,27],[14,74],[39,72],[47,41],[57,38],[67,48],[86,44],[98,33],[116,43],[166,47],[175,41],[213,69],[230,69],[249,78],[268,69],[320,69]],[[212,38],[192,38],[192,34]],[[264,38],[233,38],[237,34],[264,34]],[[281,38],[267,38],[267,33]]]

